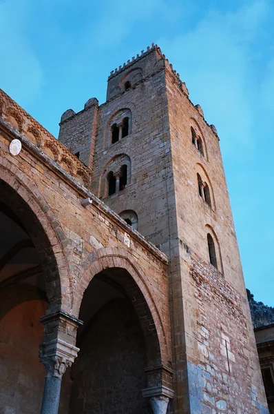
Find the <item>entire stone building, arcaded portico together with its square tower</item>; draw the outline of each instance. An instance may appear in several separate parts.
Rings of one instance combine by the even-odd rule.
[[[218,133],[160,48],[58,140],[0,116],[0,413],[267,414]]]

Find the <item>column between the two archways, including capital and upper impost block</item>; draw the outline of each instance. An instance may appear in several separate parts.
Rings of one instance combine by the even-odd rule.
[[[79,348],[74,346],[81,321],[62,311],[41,317],[45,325],[39,358],[46,369],[41,414],[58,414],[61,381]]]

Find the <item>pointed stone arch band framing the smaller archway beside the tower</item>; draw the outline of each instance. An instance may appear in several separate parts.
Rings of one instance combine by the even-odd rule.
[[[127,291],[127,295],[140,319],[147,342],[147,362],[151,366],[167,364],[169,351],[160,312],[153,295],[149,292],[143,270],[136,262],[133,263],[126,250],[122,248],[101,248],[92,253],[92,262],[83,273],[74,293],[72,314],[78,317],[83,295],[94,276],[102,270],[111,268],[122,268],[127,270],[130,275],[127,286],[123,286],[122,283],[121,285]]]

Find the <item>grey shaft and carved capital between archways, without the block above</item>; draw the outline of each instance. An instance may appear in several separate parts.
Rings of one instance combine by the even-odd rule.
[[[79,348],[61,339],[53,339],[41,346],[39,357],[47,371],[41,414],[58,414],[62,377],[72,366],[78,351]]]

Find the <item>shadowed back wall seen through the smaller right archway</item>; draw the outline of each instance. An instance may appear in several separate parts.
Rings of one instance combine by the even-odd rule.
[[[77,344],[70,414],[147,413],[145,340],[130,302],[101,308]]]

